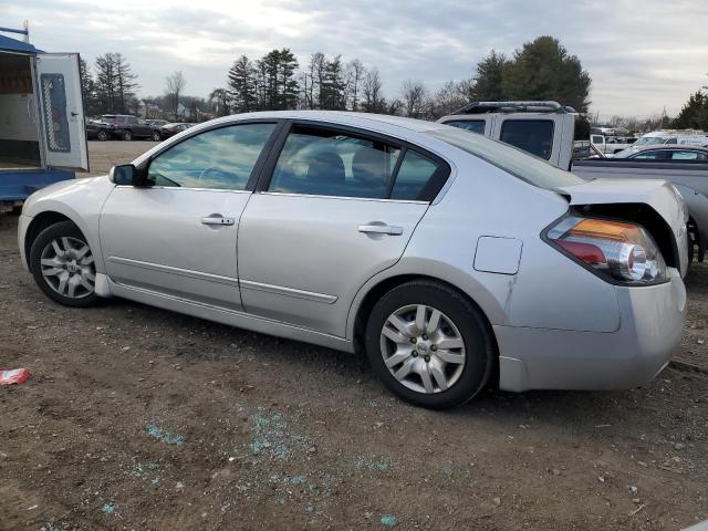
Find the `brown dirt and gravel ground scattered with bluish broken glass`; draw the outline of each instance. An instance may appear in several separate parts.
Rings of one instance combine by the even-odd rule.
[[[111,145],[91,143],[94,168],[139,153]],[[428,412],[392,397],[354,355],[126,301],[54,304],[21,267],[15,226],[0,217],[0,366],[32,378],[0,387],[0,530],[677,530],[708,519],[706,374],[669,367],[613,393],[488,391]],[[687,285],[678,356],[708,366],[708,267]]]

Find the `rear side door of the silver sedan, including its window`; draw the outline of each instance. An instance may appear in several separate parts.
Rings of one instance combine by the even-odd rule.
[[[430,184],[447,177],[441,164],[395,140],[295,124],[241,218],[246,310],[344,336],[356,292],[398,261]]]

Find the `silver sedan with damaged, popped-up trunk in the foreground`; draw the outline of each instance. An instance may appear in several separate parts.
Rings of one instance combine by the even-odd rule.
[[[649,382],[684,327],[685,227],[664,181],[589,183],[442,124],[293,111],[204,123],[41,190],[19,242],[59,303],[121,296],[361,348],[398,396],[444,408],[492,378]]]

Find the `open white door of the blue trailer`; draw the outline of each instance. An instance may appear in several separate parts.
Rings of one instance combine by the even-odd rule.
[[[88,169],[77,53],[39,53],[37,87],[48,166]]]

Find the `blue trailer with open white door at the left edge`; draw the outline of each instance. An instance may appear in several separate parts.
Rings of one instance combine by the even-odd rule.
[[[0,34],[0,211],[76,170],[88,170],[79,54]]]

